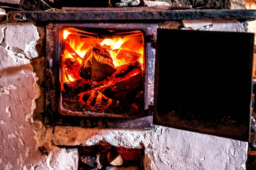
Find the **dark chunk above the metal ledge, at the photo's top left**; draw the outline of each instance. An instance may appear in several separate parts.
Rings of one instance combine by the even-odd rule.
[[[45,11],[52,8],[43,0],[20,0],[20,7],[30,11]]]

